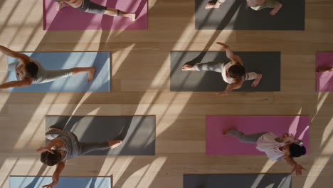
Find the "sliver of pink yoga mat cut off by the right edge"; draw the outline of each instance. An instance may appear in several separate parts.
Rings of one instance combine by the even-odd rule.
[[[317,52],[316,68],[333,66],[333,52]],[[317,91],[333,91],[333,71],[317,73]]]

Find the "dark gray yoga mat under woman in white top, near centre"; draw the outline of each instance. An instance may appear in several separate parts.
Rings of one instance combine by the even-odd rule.
[[[234,52],[242,58],[246,72],[263,74],[259,85],[253,88],[253,80],[246,80],[243,86],[234,91],[280,91],[280,52]],[[213,71],[181,71],[185,63],[228,60],[224,51],[171,51],[170,90],[171,91],[223,91],[228,83],[221,73]]]

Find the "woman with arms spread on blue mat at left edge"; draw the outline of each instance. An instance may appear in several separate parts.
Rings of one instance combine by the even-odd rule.
[[[41,63],[34,58],[30,58],[23,53],[11,51],[9,48],[0,45],[0,51],[6,56],[17,58],[19,61],[8,65],[9,71],[16,72],[15,81],[9,81],[0,84],[0,89],[5,88],[21,88],[31,85],[33,83],[47,83],[60,78],[65,78],[70,75],[78,73],[88,73],[87,81],[91,81],[94,78],[95,67],[76,67],[70,69],[61,70],[46,70]]]

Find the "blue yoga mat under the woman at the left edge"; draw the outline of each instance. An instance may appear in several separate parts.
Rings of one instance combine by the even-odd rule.
[[[110,91],[109,52],[33,52],[24,53],[40,61],[46,70],[95,66],[95,76],[87,82],[87,73],[72,75],[49,83],[32,84],[23,88],[9,88],[10,92],[107,92]],[[7,63],[18,61],[7,58]],[[16,73],[9,71],[8,80],[17,80]]]

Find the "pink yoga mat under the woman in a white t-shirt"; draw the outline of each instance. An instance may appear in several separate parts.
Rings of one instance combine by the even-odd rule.
[[[265,155],[255,144],[239,142],[236,137],[222,135],[224,130],[235,128],[244,134],[273,132],[280,136],[289,132],[303,140],[308,148],[308,116],[206,116],[206,155]]]

